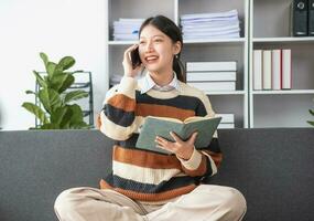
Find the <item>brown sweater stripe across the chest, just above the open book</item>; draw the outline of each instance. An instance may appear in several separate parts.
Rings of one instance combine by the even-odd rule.
[[[159,117],[172,117],[181,120],[187,117],[195,116],[195,112],[192,109],[182,109],[177,107],[158,105],[158,104],[138,104],[136,109],[137,116],[159,116]]]

